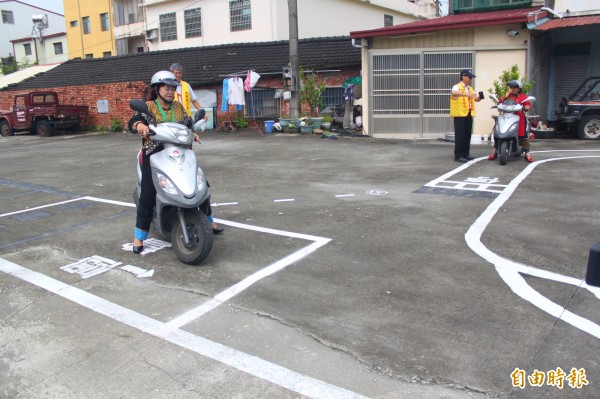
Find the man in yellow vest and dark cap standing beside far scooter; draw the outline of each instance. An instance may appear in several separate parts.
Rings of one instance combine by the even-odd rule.
[[[450,116],[454,118],[454,160],[469,162],[475,102],[481,101],[479,94],[471,87],[475,75],[468,69],[460,72],[460,82],[452,87],[450,96]]]

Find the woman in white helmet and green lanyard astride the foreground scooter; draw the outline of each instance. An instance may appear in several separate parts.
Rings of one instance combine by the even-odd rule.
[[[150,113],[156,118],[157,123],[177,122],[191,127],[192,121],[185,112],[183,105],[179,101],[173,101],[178,85],[179,82],[171,72],[159,71],[155,73],[150,81],[151,90],[146,104]],[[133,240],[133,253],[135,254],[139,254],[144,250],[144,240],[148,238],[156,204],[156,189],[152,182],[150,156],[164,149],[161,143],[149,137],[149,130],[148,121],[144,115],[136,113],[129,120],[129,131],[138,133],[143,138],[142,158],[140,159],[142,170],[141,193]],[[194,140],[199,141],[196,133],[194,133]],[[208,202],[208,215],[210,215],[210,199]]]

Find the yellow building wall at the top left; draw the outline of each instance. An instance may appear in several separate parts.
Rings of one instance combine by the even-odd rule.
[[[111,0],[63,0],[63,2],[69,59],[85,58],[86,54],[101,58],[105,52],[116,55]],[[102,31],[100,25],[100,14],[103,13],[108,13],[106,31]],[[90,18],[89,34],[83,34],[83,17]],[[71,21],[77,21],[77,26],[71,27]]]

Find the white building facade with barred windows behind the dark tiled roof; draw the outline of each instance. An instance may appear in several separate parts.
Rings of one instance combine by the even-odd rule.
[[[144,0],[150,51],[289,39],[287,0]],[[298,37],[347,35],[418,18],[407,0],[298,1]]]

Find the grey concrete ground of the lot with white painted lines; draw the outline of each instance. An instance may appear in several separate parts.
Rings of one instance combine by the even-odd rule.
[[[199,267],[123,249],[134,136],[0,138],[0,397],[600,395],[600,142],[203,136]]]

